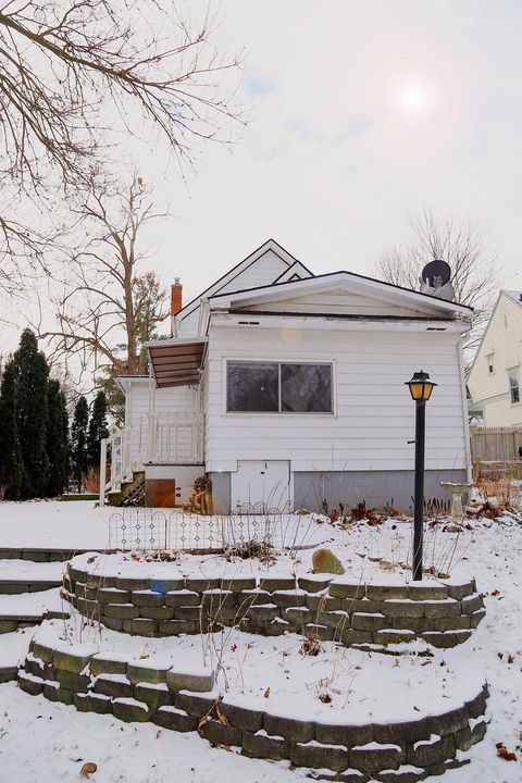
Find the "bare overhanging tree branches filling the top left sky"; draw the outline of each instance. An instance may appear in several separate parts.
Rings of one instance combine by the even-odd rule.
[[[209,14],[192,25],[176,0],[3,0],[0,286],[21,257],[47,269],[60,235],[50,194],[85,188],[139,114],[189,163],[199,141],[228,141],[241,113],[226,74],[238,62],[214,50],[212,27]],[[28,227],[35,209],[21,219],[21,198],[36,203],[41,229]]]

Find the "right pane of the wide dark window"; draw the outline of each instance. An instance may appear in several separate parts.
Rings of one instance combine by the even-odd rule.
[[[331,364],[282,364],[281,408],[296,413],[331,413]]]

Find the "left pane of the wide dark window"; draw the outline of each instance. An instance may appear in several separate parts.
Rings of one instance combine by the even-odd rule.
[[[226,409],[278,411],[277,364],[228,362]]]

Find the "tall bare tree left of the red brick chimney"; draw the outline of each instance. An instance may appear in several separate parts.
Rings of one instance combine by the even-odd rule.
[[[91,183],[77,210],[91,238],[71,257],[64,293],[55,299],[58,328],[38,337],[53,346],[50,361],[76,357],[82,369],[110,376],[145,372],[144,343],[167,315],[166,291],[144,271],[140,233],[165,212],[135,175],[128,188]]]

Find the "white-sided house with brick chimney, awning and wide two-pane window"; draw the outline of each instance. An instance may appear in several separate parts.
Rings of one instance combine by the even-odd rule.
[[[424,370],[426,497],[469,476],[462,336],[471,309],[350,272],[313,275],[274,240],[181,307],[149,345],[150,381],[123,377],[113,477],[144,470],[147,505],[182,505],[202,474],[214,510],[408,509]]]

